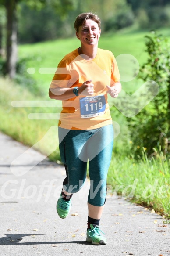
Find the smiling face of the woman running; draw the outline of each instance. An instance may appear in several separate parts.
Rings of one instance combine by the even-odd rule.
[[[100,32],[98,24],[91,19],[87,19],[85,24],[79,27],[76,36],[81,41],[81,45],[97,45]]]

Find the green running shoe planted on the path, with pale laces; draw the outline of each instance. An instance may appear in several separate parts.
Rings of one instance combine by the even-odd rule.
[[[87,230],[86,242],[92,242],[93,245],[106,245],[106,238],[103,237],[100,232],[104,234],[99,226],[90,224],[91,229]]]

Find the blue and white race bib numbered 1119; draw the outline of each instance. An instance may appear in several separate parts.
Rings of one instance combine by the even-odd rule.
[[[80,98],[81,118],[103,115],[106,109],[104,95]]]

